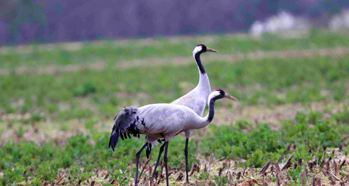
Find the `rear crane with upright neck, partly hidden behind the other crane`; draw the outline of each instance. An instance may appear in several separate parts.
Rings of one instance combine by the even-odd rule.
[[[204,52],[218,52],[214,49],[210,49],[209,47],[199,44],[195,45],[192,51],[193,57],[196,61],[196,65],[199,68],[199,83],[198,85],[188,92],[186,95],[176,99],[173,101],[171,104],[176,104],[176,105],[184,105],[192,109],[196,114],[199,116],[202,116],[203,111],[205,110],[206,104],[209,104],[208,102],[208,95],[211,93],[211,87],[210,87],[210,82],[208,80],[207,73],[205,71],[205,68],[203,68],[203,65],[200,60],[200,54]],[[186,171],[186,181],[189,183],[189,178],[188,178],[188,142],[189,142],[189,137],[192,134],[192,129],[185,129],[184,131],[181,131],[185,133],[186,141],[185,141],[185,148],[184,148],[184,154],[185,154],[185,171]],[[148,136],[147,136],[148,137]],[[153,138],[153,137],[151,137]],[[161,143],[161,141],[159,140]],[[149,154],[151,151],[151,146],[153,143],[149,143],[148,146],[146,147],[146,154],[147,158],[149,158]],[[161,154],[164,150],[165,144],[162,144],[159,150],[159,155],[157,158],[157,161],[155,163],[155,168],[154,172],[151,176],[151,179],[154,178],[155,172],[157,165],[159,163],[159,160],[161,158]]]

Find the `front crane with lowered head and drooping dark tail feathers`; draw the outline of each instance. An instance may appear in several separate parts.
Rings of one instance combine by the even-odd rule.
[[[213,90],[208,96],[207,101],[209,106],[206,117],[200,117],[189,107],[166,103],[150,104],[140,108],[124,107],[124,109],[118,113],[109,140],[109,147],[112,147],[113,151],[118,142],[119,136],[121,139],[130,134],[133,134],[134,136],[146,134],[148,136],[146,143],[144,143],[142,148],[136,153],[135,186],[137,186],[138,183],[138,164],[140,154],[149,143],[155,142],[156,139],[165,139],[164,166],[166,172],[166,185],[169,186],[167,167],[167,150],[169,141],[173,136],[181,131],[206,127],[214,117],[215,101],[222,98],[237,101],[235,97],[226,94],[222,89]],[[129,136],[129,138],[131,137]]]

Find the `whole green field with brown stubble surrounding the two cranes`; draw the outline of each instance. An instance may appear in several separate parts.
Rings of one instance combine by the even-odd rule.
[[[310,30],[292,38],[217,35],[1,47],[0,185],[133,183],[135,152],[144,140],[119,141],[112,152],[107,144],[113,117],[124,106],[170,103],[193,89],[198,69],[191,51],[199,43],[219,51],[202,54],[211,88],[222,88],[239,102],[218,101],[212,124],[193,132],[189,163],[201,169],[191,176],[191,185],[195,180],[198,185],[227,185],[229,172],[233,183],[260,184],[258,171],[268,160],[281,167],[292,153],[290,168],[283,170],[284,185],[301,185],[304,170],[309,183],[313,177],[331,183],[321,169],[346,181],[349,159],[339,173],[334,171],[334,163],[339,166],[349,151],[345,33]],[[243,58],[229,60],[236,55]],[[185,176],[176,179],[185,174],[184,137],[169,144],[170,182],[182,185]],[[149,183],[157,152],[158,146],[141,184]],[[219,161],[207,173],[210,154]],[[141,158],[142,169],[145,153]],[[293,169],[299,159],[303,163]],[[268,184],[275,185],[275,173],[266,173]],[[158,176],[158,184],[165,184],[163,177]]]

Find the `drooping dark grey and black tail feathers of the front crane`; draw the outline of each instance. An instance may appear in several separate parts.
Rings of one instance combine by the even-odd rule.
[[[141,116],[137,115],[138,107],[124,107],[118,115],[115,117],[114,126],[110,135],[109,140],[109,148],[112,147],[113,151],[118,143],[119,136],[121,140],[127,139],[128,137],[131,139],[130,134],[134,136],[139,136],[139,132],[137,130],[137,124],[139,120],[143,120]],[[127,133],[127,135],[126,135]]]

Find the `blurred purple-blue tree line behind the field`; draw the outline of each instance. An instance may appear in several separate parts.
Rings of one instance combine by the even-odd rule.
[[[246,31],[281,10],[337,14],[342,0],[0,0],[0,44]]]

